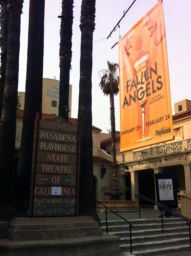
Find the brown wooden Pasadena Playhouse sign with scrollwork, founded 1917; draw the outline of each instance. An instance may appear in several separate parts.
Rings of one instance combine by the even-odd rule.
[[[35,120],[30,217],[78,214],[80,128],[61,116]]]

